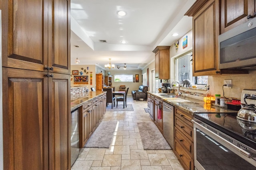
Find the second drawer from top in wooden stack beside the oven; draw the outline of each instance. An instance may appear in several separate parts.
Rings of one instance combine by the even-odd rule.
[[[188,126],[184,121],[179,119],[177,116],[174,118],[174,125],[182,132],[188,139],[193,141],[193,128]]]

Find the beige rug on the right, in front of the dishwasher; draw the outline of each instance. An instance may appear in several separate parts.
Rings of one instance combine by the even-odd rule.
[[[138,128],[144,150],[171,149],[154,122],[138,122]]]

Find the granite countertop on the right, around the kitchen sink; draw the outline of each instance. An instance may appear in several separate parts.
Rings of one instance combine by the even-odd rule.
[[[194,115],[194,113],[237,113],[235,110],[228,109],[226,107],[219,107],[219,106],[206,106],[204,101],[197,100],[194,98],[189,97],[180,97],[178,98],[167,98],[164,96],[161,96],[162,93],[154,93],[154,92],[148,92],[148,94],[151,94],[154,97],[160,98],[164,102],[171,104],[174,107],[177,107],[178,109],[181,109],[183,111],[186,111],[187,113]],[[174,95],[174,94],[168,94],[167,95]]]

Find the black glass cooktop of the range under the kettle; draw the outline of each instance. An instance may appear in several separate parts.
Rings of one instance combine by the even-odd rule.
[[[256,126],[256,123],[236,119],[236,115],[237,113],[194,113],[196,119],[256,149],[256,130],[248,130],[250,126]]]

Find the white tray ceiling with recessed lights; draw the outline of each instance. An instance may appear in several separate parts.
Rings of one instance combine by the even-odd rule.
[[[111,59],[111,64],[143,69],[154,61],[156,46],[172,45],[192,29],[192,18],[184,14],[195,1],[71,0],[71,64],[78,57],[80,65],[104,68]],[[126,16],[118,16],[118,10]]]

